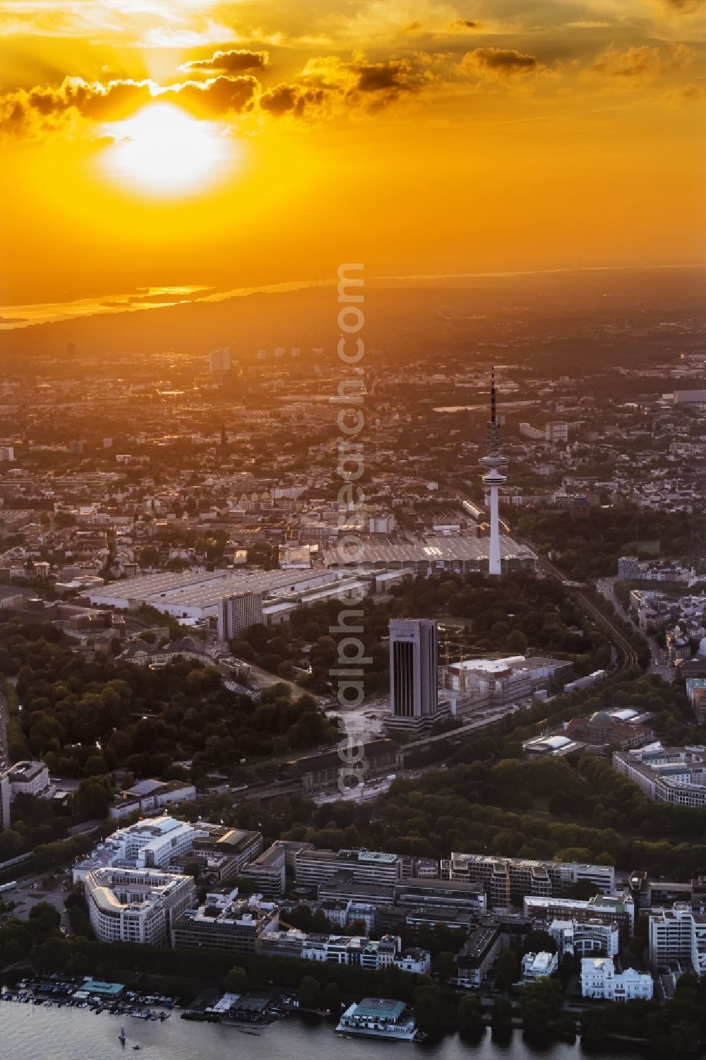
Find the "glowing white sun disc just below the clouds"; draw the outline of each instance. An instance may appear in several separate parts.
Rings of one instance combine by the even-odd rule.
[[[102,158],[109,176],[143,194],[183,195],[223,177],[235,157],[216,122],[199,121],[169,103],[105,126],[113,143]]]

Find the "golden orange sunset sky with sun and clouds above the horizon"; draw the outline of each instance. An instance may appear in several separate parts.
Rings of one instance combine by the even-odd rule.
[[[0,313],[703,262],[705,36],[703,0],[0,0]]]

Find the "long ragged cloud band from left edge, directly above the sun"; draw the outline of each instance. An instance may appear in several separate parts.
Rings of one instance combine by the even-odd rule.
[[[66,77],[58,88],[37,87],[0,96],[0,128],[18,135],[31,134],[72,113],[91,121],[118,121],[148,103],[175,99],[204,117],[218,117],[250,109],[260,83],[247,74],[187,81],[158,94],[154,94],[155,88],[148,81],[111,81],[103,85],[82,77]]]

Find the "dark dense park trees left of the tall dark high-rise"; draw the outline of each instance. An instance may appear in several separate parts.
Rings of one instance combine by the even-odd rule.
[[[43,757],[67,777],[118,767],[159,777],[190,760],[198,780],[210,771],[229,775],[242,758],[335,737],[315,701],[303,693],[293,700],[287,686],[272,686],[255,703],[227,689],[214,667],[177,659],[153,670],[103,654],[89,659],[51,625],[0,625],[0,672],[16,675],[22,706],[11,757]]]

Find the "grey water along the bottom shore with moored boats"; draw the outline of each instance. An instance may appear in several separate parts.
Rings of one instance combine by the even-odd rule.
[[[121,1023],[127,1042],[118,1040]],[[139,1044],[140,1052],[133,1046]],[[192,1023],[175,1012],[165,1023],[148,1023],[129,1017],[94,1015],[72,1008],[41,1008],[35,1005],[0,1005],[0,1058],[2,1060],[380,1060],[388,1050],[398,1060],[643,1060],[632,1049],[601,1048],[588,1053],[580,1043],[526,1041],[515,1030],[508,1042],[499,1043],[487,1030],[469,1043],[448,1035],[422,1044],[381,1042],[341,1038],[325,1021],[290,1017],[265,1027],[259,1036],[245,1035],[233,1027]]]

